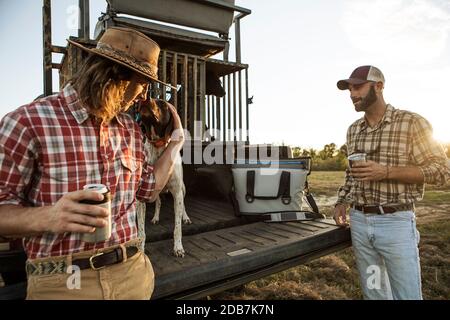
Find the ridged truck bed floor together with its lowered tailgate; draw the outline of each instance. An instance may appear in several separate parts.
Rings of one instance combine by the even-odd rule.
[[[236,217],[231,204],[187,197],[184,258],[172,255],[173,205],[162,199],[161,221],[147,208],[146,253],[156,282],[152,299],[194,299],[305,263],[350,246],[348,229],[330,220],[266,223]]]

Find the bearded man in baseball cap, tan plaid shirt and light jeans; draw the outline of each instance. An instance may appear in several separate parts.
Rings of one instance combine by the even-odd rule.
[[[340,80],[364,117],[347,131],[348,154],[365,153],[346,172],[334,219],[347,225],[366,299],[422,299],[419,233],[414,203],[424,184],[443,185],[450,177],[447,157],[433,140],[429,122],[395,109],[383,98],[385,79],[374,66],[356,68]]]

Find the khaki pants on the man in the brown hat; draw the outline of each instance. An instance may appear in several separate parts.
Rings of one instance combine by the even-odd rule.
[[[108,250],[111,248],[97,252]],[[92,251],[83,252],[39,261],[66,259],[67,265],[71,265],[72,260],[90,257],[92,254]],[[27,300],[148,300],[153,293],[154,278],[149,258],[139,251],[131,258],[101,270],[84,269],[79,270],[78,274],[72,271],[29,275]]]

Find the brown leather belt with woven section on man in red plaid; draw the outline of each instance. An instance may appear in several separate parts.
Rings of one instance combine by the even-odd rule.
[[[125,248],[127,259],[134,256],[139,252],[138,247],[135,245]],[[120,263],[124,260],[123,251],[120,247],[115,248],[108,252],[99,252],[93,254],[89,258],[72,260],[72,265],[78,266],[81,270],[89,269],[100,270],[106,268],[107,266]],[[26,271],[28,275],[45,275],[45,274],[56,274],[56,273],[66,273],[67,270],[66,260],[59,261],[45,261],[45,262],[32,262],[28,261],[26,265]]]

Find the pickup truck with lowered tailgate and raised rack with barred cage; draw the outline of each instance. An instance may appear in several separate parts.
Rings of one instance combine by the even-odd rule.
[[[95,46],[96,41],[89,39],[89,1],[80,0],[79,4],[80,30],[75,40]],[[251,149],[252,98],[248,95],[248,65],[241,62],[240,54],[240,22],[250,13],[236,6],[234,0],[107,0],[95,37],[108,27],[125,26],[136,28],[160,44],[159,78],[179,90],[167,91],[155,85],[149,93],[176,105],[184,128],[198,140],[199,147],[194,143],[191,149],[183,150],[201,153],[213,141],[243,143]],[[219,36],[155,21],[216,32]],[[233,23],[236,61],[230,62],[228,33]],[[62,86],[77,71],[84,53],[71,45],[51,44],[50,0],[43,0],[43,37],[44,95],[48,95],[53,91],[52,68],[59,69]],[[52,63],[53,52],[64,55],[61,63]],[[222,60],[213,58],[219,53],[223,54]],[[290,156],[286,148],[279,149],[282,158]],[[172,255],[171,196],[162,196],[157,225],[150,223],[153,208],[147,206],[145,252],[156,275],[152,299],[205,297],[351,245],[349,230],[329,219],[268,223],[240,215],[226,191],[233,184],[232,164],[227,161],[186,161],[183,166],[186,211],[193,222],[183,225],[184,258]],[[25,297],[25,260],[20,239],[0,243],[0,299]]]

